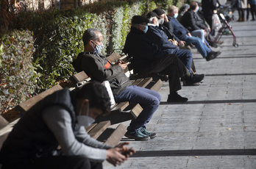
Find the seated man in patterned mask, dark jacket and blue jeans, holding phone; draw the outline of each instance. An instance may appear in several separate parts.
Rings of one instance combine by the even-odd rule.
[[[156,133],[146,131],[146,123],[149,123],[160,104],[160,94],[132,85],[123,72],[128,63],[118,61],[113,65],[106,57],[99,54],[103,48],[102,40],[103,36],[99,29],[87,29],[82,36],[85,51],[74,60],[74,68],[77,72],[85,71],[93,80],[109,81],[116,103],[130,101],[143,107],[141,114],[129,124],[126,137],[135,140],[148,140],[149,137],[151,139],[156,137]]]

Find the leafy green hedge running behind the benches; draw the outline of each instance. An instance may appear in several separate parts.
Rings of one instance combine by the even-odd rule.
[[[1,98],[6,99],[12,96],[18,104],[24,101],[24,98],[28,98],[29,93],[34,93],[35,88],[37,91],[47,89],[60,82],[63,77],[65,80],[65,77],[71,76],[74,73],[71,62],[79,52],[83,51],[82,34],[85,29],[98,28],[104,37],[102,54],[112,54],[123,48],[133,15],[145,14],[156,7],[166,9],[172,3],[172,0],[101,1],[79,9],[52,10],[42,13],[22,12],[16,15],[10,23],[10,29],[13,31],[4,32],[5,35],[1,38],[1,55],[3,54],[1,65],[4,66],[1,70],[1,78],[4,76],[1,79],[1,86],[8,83],[7,86],[11,90],[18,90],[18,93],[24,93],[24,96],[18,98],[18,96],[12,96],[11,90],[9,93],[6,92],[7,90],[1,90]],[[17,41],[17,43],[10,43],[12,48],[15,48],[13,51],[6,43],[10,37]],[[27,43],[21,43],[22,40],[26,40]],[[19,46],[18,42],[21,43]],[[29,49],[22,51],[24,46],[29,46]],[[12,53],[14,51],[19,52],[18,57]],[[8,56],[13,63],[8,65],[10,63],[3,56]],[[21,60],[23,65],[25,62],[27,64],[23,67],[27,69],[24,70],[26,76],[23,76],[26,82],[19,83],[21,68],[18,69],[17,66],[18,61]],[[4,71],[9,73],[2,73]],[[11,83],[12,78],[19,79],[16,81],[18,83]],[[21,84],[24,84],[22,90],[19,88]],[[15,85],[17,87],[14,87]],[[4,87],[8,88],[7,86]]]

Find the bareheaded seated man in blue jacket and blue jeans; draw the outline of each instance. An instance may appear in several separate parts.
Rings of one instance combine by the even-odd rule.
[[[160,18],[165,17],[164,15],[165,14],[161,14]],[[174,35],[176,35],[179,39],[184,40],[186,43],[192,43],[194,46],[196,46],[199,53],[207,61],[213,60],[218,57],[219,54],[221,54],[220,51],[212,51],[210,48],[208,48],[205,43],[200,40],[199,37],[191,36],[191,33],[188,31],[188,29],[185,29],[185,27],[179,23],[177,16],[178,8],[174,5],[171,5],[171,7],[168,8],[168,21],[171,21],[171,24],[174,26]]]

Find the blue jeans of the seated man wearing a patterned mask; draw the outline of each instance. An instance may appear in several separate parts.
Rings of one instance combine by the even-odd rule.
[[[132,85],[127,87],[118,96],[115,96],[116,103],[123,101],[140,104],[143,108],[141,114],[138,115],[138,117],[134,121],[131,121],[129,124],[132,129],[136,130],[142,126],[146,127],[146,123],[149,123],[152,115],[160,104],[161,96],[154,90]]]

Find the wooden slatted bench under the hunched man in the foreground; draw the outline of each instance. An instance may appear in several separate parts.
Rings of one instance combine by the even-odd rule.
[[[20,113],[20,116],[22,116],[24,113],[26,113],[27,110],[38,103],[38,101],[42,100],[46,96],[49,96],[51,93],[62,89],[63,87],[61,87],[60,84],[57,84],[56,86],[49,88],[43,93],[38,94],[38,96],[29,98],[28,100],[22,102],[8,112],[15,112],[16,114]],[[13,126],[18,122],[20,116],[15,115],[15,118],[7,121],[2,115],[0,115],[0,150],[4,140],[7,139],[8,134],[12,131]],[[122,124],[118,125],[115,129],[110,128],[109,126],[110,121],[102,121],[101,123],[94,123],[93,125],[86,128],[86,130],[91,137],[98,139],[107,145],[115,146],[118,144],[127,130]]]

